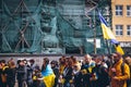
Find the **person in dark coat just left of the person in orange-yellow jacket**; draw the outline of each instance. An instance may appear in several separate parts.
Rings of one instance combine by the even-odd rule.
[[[102,55],[95,58],[96,66],[91,74],[92,87],[107,87],[109,85],[108,66]]]

